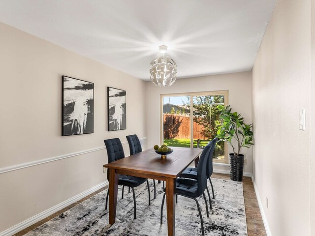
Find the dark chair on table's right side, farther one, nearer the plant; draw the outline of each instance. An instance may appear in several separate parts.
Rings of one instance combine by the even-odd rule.
[[[211,181],[211,175],[213,173],[213,151],[216,148],[216,143],[218,142],[218,138],[214,138],[211,142],[207,144],[207,146],[210,146],[210,153],[209,153],[209,159],[207,163],[207,178],[210,181],[211,188],[212,188],[212,196],[215,199],[215,191],[213,189],[212,181]],[[181,175],[181,178],[192,178],[192,179],[197,179],[197,168],[194,167],[188,167]],[[212,209],[211,205],[211,198],[210,198],[210,193],[208,186],[206,186],[207,192],[208,192],[208,197],[209,197],[209,202],[210,202],[210,209]]]

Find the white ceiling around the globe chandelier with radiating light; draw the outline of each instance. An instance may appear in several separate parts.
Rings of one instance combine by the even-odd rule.
[[[158,46],[177,77],[252,69],[276,0],[0,0],[0,22],[149,80]]]

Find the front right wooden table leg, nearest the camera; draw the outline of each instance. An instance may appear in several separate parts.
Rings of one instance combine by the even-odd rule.
[[[166,178],[166,209],[168,236],[175,236],[175,188],[176,178]]]

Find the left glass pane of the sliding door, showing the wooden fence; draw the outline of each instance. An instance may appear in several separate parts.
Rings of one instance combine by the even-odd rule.
[[[163,142],[190,148],[190,96],[163,97]]]

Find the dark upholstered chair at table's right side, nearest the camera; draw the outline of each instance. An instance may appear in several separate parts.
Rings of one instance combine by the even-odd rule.
[[[181,195],[187,198],[193,199],[196,204],[199,211],[200,221],[201,221],[201,231],[202,235],[204,235],[204,228],[203,228],[203,220],[201,215],[201,210],[199,207],[199,203],[196,198],[203,195],[203,198],[205,200],[206,209],[207,209],[207,217],[209,217],[209,210],[208,210],[208,204],[205,196],[205,189],[207,185],[207,161],[209,158],[210,153],[210,146],[206,146],[199,158],[198,166],[197,166],[197,179],[191,179],[191,178],[177,178],[176,179],[176,189],[175,194]],[[165,189],[164,189],[165,191]],[[161,219],[160,223],[162,224],[162,217],[163,217],[163,205],[165,200],[165,193],[163,195],[162,200],[162,206],[161,206]]]

